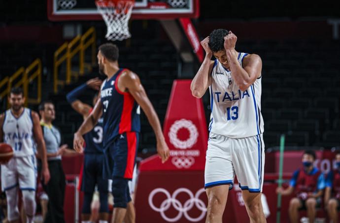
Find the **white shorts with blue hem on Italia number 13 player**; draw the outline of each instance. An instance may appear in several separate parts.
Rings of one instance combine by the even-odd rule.
[[[235,175],[239,187],[261,192],[265,166],[265,144],[262,134],[247,138],[228,138],[210,132],[206,151],[204,188],[229,184]]]

